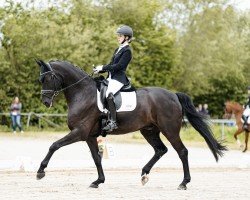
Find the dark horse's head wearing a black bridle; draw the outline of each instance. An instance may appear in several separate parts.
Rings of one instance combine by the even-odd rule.
[[[40,66],[39,81],[42,84],[42,102],[46,107],[51,107],[55,96],[58,95],[61,89],[61,81],[50,64],[46,64],[42,60],[36,60]]]

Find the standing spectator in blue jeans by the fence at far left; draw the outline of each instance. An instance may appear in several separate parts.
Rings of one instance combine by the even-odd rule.
[[[22,109],[22,103],[19,101],[18,97],[15,97],[10,106],[10,116],[12,121],[13,133],[16,133],[16,127],[19,128],[21,133],[23,133],[21,125],[21,109]]]

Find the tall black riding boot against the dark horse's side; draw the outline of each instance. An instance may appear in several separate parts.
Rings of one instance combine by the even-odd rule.
[[[107,98],[107,102],[108,102],[108,108],[109,108],[109,113],[110,113],[110,119],[107,125],[102,130],[111,132],[114,129],[118,128],[116,124],[116,107],[114,103],[114,95],[112,93],[109,94]]]

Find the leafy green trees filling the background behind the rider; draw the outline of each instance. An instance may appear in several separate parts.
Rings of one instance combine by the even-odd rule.
[[[54,109],[42,105],[34,58],[67,60],[90,73],[110,61],[121,24],[134,29],[128,74],[136,87],[186,92],[217,115],[228,88],[240,100],[250,84],[250,15],[227,0],[131,0],[125,6],[122,0],[69,0],[43,8],[32,2],[8,0],[0,8],[4,111],[18,95],[23,111],[65,112],[64,98]]]

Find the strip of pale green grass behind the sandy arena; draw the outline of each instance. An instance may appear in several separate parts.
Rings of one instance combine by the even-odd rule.
[[[224,136],[222,135],[222,126],[221,125],[212,125],[212,131],[214,133],[215,138],[218,140],[224,140],[224,143],[230,149],[238,149],[236,142],[233,138],[233,134],[236,131],[236,127],[224,126]],[[69,130],[66,127],[60,128],[46,128],[46,129],[38,129],[37,127],[29,127],[28,130],[24,130],[25,132],[21,135],[22,137],[31,137],[31,138],[53,138],[59,139],[69,133]],[[19,132],[16,135],[12,134],[11,130],[8,127],[0,126],[0,137],[15,137],[20,136]],[[198,146],[198,147],[206,147],[207,144],[203,137],[194,130],[190,125],[186,128],[182,127],[180,132],[180,137],[183,143],[188,146]],[[168,140],[161,134],[161,139],[163,142],[169,146]],[[244,142],[244,134],[239,135],[239,139]],[[116,143],[147,143],[143,136],[139,131],[124,134],[124,135],[108,135],[106,140],[109,142]]]

